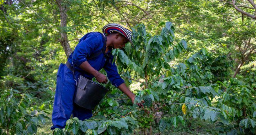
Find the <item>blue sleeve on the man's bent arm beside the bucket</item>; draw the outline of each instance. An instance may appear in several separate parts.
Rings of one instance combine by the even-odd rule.
[[[87,60],[87,57],[89,57],[102,42],[102,38],[100,38],[100,36],[101,35],[99,33],[90,33],[86,38],[82,37],[80,39],[78,45],[74,49],[72,57],[74,64],[80,66]]]

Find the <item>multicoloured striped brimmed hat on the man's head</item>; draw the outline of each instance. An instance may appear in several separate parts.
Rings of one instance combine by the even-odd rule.
[[[132,43],[132,30],[129,29],[128,27],[122,25],[122,24],[116,24],[116,23],[110,23],[105,25],[102,28],[102,32],[105,33],[106,35],[113,33],[114,31],[122,34],[124,37],[126,37],[131,45],[133,46]]]

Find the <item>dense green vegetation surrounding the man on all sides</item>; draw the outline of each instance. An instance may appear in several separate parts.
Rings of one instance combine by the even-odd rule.
[[[144,108],[107,83],[93,117],[54,134],[170,134],[194,121],[214,125],[207,134],[256,134],[253,1],[0,2],[0,134],[52,134],[44,124],[59,64],[80,37],[112,22],[133,30],[135,47],[112,54]]]

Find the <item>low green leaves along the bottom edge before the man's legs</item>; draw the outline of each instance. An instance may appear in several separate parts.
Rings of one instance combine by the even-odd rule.
[[[78,118],[69,119],[66,122],[65,129],[55,129],[54,135],[63,134],[88,134],[97,135],[101,133],[108,133],[111,135],[127,133],[128,125],[137,124],[131,117],[121,117],[115,119],[106,119],[104,116],[97,116],[97,119],[90,118],[85,121],[81,121]]]

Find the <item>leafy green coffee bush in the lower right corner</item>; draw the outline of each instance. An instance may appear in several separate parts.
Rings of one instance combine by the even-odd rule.
[[[255,86],[231,78],[229,81],[219,82],[219,87],[223,91],[217,102],[217,106],[223,111],[222,123],[233,122],[233,132],[254,134]],[[229,131],[229,128],[223,127],[222,131]]]

